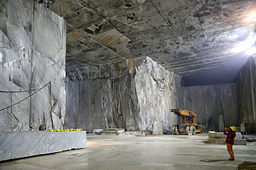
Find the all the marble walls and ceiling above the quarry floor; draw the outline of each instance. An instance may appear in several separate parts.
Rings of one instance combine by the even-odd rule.
[[[256,132],[255,0],[0,1],[0,131]]]

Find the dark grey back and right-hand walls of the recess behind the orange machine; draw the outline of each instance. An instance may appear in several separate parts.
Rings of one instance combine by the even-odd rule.
[[[184,87],[185,108],[199,113],[199,123],[209,130],[247,126],[246,132],[256,131],[256,65],[251,56],[235,83]]]

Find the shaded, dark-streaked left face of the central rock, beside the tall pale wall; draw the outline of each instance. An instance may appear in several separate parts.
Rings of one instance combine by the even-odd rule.
[[[136,62],[66,72],[65,127],[138,130],[138,99],[131,83]]]

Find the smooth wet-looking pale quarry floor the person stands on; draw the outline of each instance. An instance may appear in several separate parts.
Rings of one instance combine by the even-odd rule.
[[[0,169],[237,169],[256,162],[256,142],[234,145],[228,161],[226,145],[207,143],[208,134],[100,136],[89,134],[87,148],[0,162]]]

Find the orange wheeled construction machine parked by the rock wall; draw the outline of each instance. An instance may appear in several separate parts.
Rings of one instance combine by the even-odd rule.
[[[203,133],[203,125],[197,125],[196,112],[183,109],[170,109],[170,111],[182,118],[182,124],[172,125],[172,134]]]

